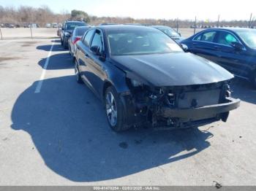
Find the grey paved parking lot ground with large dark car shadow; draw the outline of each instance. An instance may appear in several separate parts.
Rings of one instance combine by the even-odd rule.
[[[256,184],[256,90],[247,82],[233,81],[241,107],[226,123],[114,133],[59,44],[0,41],[0,185]]]

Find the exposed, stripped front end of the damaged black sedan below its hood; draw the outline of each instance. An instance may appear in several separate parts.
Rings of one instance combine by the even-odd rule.
[[[231,98],[228,82],[173,87],[133,87],[122,95],[127,125],[154,128],[188,128],[211,122],[227,121],[239,99]]]

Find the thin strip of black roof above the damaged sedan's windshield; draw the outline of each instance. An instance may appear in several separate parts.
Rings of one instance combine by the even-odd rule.
[[[156,31],[155,28],[150,28],[148,26],[135,26],[135,25],[109,25],[109,26],[97,26],[95,28],[102,29],[103,31]]]

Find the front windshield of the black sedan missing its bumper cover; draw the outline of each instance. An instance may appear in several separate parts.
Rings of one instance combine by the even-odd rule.
[[[111,55],[143,55],[183,52],[160,31],[115,31],[108,34]]]

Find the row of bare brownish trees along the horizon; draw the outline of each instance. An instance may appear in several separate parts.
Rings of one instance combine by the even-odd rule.
[[[37,23],[40,27],[44,27],[46,23],[64,23],[65,20],[83,20],[91,25],[100,23],[140,23],[148,25],[165,25],[173,28],[188,28],[195,25],[194,20],[177,20],[177,19],[134,19],[132,17],[97,17],[89,15],[81,10],[72,10],[72,12],[63,11],[59,14],[54,13],[48,6],[39,8],[20,6],[2,7],[0,5],[0,23],[12,23],[22,26],[23,23]],[[217,26],[217,21],[198,20],[197,27]],[[250,25],[255,26],[255,20]],[[240,26],[249,25],[248,20],[231,20],[219,21],[219,26]]]

